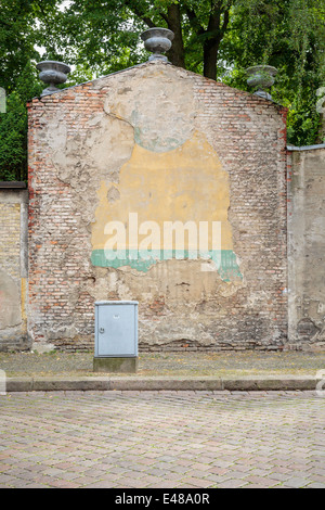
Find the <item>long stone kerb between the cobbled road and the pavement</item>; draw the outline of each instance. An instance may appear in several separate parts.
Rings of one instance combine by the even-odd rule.
[[[315,377],[221,378],[8,378],[6,393],[67,391],[313,391],[322,381]]]

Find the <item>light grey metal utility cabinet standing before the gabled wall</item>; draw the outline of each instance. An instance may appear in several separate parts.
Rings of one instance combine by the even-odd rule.
[[[138,356],[138,302],[95,303],[95,356]]]

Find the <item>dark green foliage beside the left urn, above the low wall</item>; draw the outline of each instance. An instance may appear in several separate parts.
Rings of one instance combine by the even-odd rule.
[[[55,12],[55,1],[47,10]],[[0,87],[6,92],[6,113],[0,113],[0,180],[27,179],[26,102],[39,95],[35,63],[41,40],[41,2],[1,0]],[[39,24],[39,26],[38,26]]]

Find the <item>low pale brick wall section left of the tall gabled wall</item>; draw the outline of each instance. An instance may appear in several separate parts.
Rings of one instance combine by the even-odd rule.
[[[0,187],[0,350],[26,349],[26,190]]]

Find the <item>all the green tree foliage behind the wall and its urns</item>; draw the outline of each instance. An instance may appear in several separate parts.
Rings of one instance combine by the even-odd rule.
[[[317,140],[325,84],[325,0],[0,0],[0,179],[26,178],[25,103],[40,93],[35,64],[73,64],[74,85],[144,62],[141,31],[170,28],[174,65],[248,90],[245,69],[278,69],[275,101],[289,107],[288,142]]]

